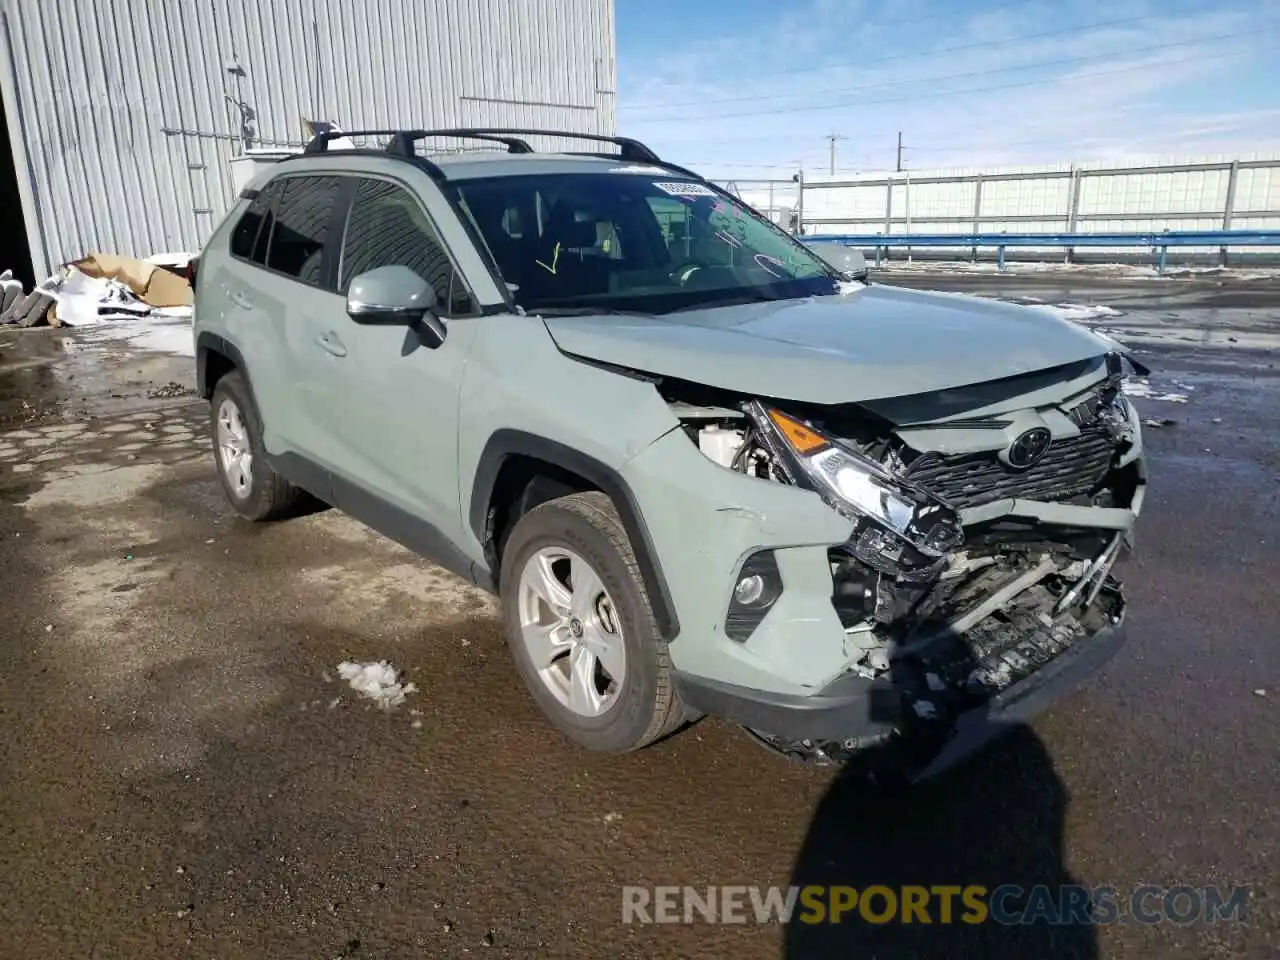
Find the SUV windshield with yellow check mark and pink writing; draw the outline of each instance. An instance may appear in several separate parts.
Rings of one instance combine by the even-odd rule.
[[[817,255],[698,180],[570,173],[452,188],[529,311],[666,314],[838,292]]]

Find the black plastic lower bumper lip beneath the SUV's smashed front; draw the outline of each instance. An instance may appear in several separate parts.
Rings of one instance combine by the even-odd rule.
[[[940,749],[913,780],[934,777],[1025,723],[1101,668],[1124,640],[1121,617],[1120,622],[1078,640],[982,705],[940,718],[941,737],[933,741]],[[891,675],[867,678],[847,673],[812,696],[748,690],[682,673],[676,675],[675,682],[689,707],[786,741],[855,748],[883,741],[915,721],[910,716],[909,694]]]

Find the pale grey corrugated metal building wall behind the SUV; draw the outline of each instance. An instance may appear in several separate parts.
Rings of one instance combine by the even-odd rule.
[[[0,9],[3,90],[40,275],[95,250],[198,250],[233,200],[237,101],[253,111],[260,146],[301,145],[303,118],[344,129],[614,132],[613,0]]]

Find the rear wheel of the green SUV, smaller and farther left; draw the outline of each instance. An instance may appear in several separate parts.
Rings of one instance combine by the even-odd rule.
[[[232,508],[255,522],[296,512],[305,494],[266,462],[262,421],[238,370],[218,380],[209,408],[214,465]]]

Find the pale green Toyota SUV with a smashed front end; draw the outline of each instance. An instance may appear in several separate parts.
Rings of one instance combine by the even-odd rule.
[[[310,494],[495,593],[594,750],[716,716],[918,780],[1116,650],[1146,467],[1114,340],[868,283],[636,141],[380,136],[260,174],[198,261],[239,515]]]

